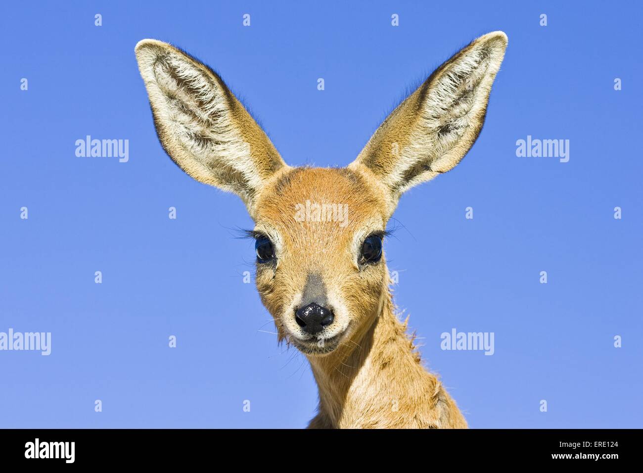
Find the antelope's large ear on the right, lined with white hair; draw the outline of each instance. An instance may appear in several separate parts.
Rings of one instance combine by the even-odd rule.
[[[392,209],[404,190],[457,165],[469,151],[487,111],[507,35],[484,35],[440,66],[377,129],[350,168],[368,168]]]

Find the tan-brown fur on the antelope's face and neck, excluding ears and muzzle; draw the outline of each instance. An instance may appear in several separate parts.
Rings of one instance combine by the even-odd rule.
[[[283,256],[278,266],[259,267],[257,288],[275,317],[280,338],[287,335],[282,314],[311,272],[321,272],[332,292],[343,294],[351,326],[338,348],[322,357],[309,354],[320,387],[320,413],[310,427],[466,427],[455,402],[434,375],[424,369],[406,324],[399,322],[388,290],[386,264],[356,268],[345,248],[354,228],[387,219],[383,194],[371,176],[349,178],[337,169],[297,169],[281,185],[279,198],[267,187],[258,201],[258,221],[278,229]],[[377,189],[377,188],[376,188]],[[379,194],[379,195],[378,195]],[[293,209],[306,199],[347,202],[350,223],[303,222],[293,227]],[[303,249],[303,250],[302,250]]]

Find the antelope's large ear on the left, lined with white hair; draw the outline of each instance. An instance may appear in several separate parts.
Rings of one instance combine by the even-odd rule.
[[[264,131],[219,75],[183,51],[143,39],[136,59],[167,154],[195,180],[239,194],[253,216],[262,186],[287,168]]]

